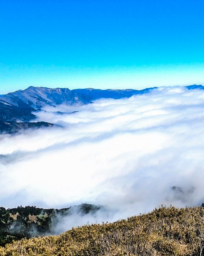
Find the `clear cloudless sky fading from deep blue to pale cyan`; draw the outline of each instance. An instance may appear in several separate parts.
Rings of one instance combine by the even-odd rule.
[[[204,0],[0,0],[0,93],[204,83]]]

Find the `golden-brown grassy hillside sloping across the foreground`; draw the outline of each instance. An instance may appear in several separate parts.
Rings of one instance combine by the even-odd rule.
[[[201,256],[204,208],[155,209],[111,224],[73,228],[60,236],[22,239],[1,256]]]

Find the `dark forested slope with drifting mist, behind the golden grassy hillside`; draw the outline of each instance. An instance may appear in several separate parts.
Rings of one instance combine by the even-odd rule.
[[[0,207],[0,246],[25,237],[62,233],[64,231],[62,223],[66,224],[67,228],[71,228],[72,226],[67,225],[68,220],[71,221],[76,216],[78,218],[94,217],[100,208],[100,206],[91,204],[63,209],[42,209],[29,206],[12,209]]]

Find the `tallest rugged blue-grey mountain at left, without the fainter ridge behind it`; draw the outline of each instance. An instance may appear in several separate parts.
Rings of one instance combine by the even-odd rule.
[[[86,96],[78,95],[68,88],[28,87],[0,96],[0,133],[14,133],[21,129],[53,126],[46,122],[31,122],[35,112],[45,106],[60,104],[87,104]]]

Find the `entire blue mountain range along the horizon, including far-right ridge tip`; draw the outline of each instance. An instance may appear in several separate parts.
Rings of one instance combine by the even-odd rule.
[[[202,85],[189,85],[187,89],[204,89]],[[28,87],[26,90],[17,90],[13,93],[0,95],[0,133],[15,133],[21,129],[52,126],[46,122],[35,122],[35,112],[46,106],[56,107],[60,104],[88,104],[96,99],[129,98],[133,95],[148,93],[157,87],[143,90],[100,90]]]

